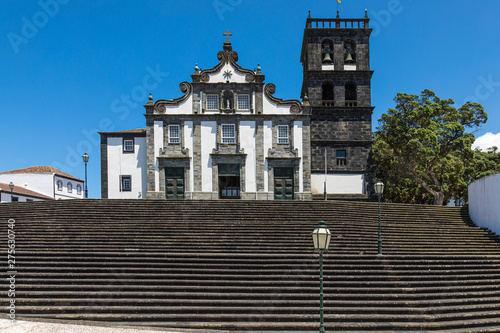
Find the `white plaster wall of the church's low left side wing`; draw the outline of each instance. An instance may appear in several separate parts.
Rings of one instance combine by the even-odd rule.
[[[108,137],[108,198],[146,197],[146,138],[134,139],[134,153],[123,153],[123,138]],[[120,176],[132,176],[132,190],[120,191]]]

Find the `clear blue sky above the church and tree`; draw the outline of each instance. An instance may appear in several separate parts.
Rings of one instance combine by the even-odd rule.
[[[500,132],[500,1],[343,0],[340,16],[365,8],[374,129],[397,92],[431,89],[485,107],[476,136]],[[260,63],[275,96],[300,98],[308,10],[334,17],[336,1],[2,1],[0,170],[51,165],[83,178],[87,152],[89,196],[100,197],[96,132],[145,127],[147,94],[182,95],[195,63],[218,63],[226,29],[241,66]]]

